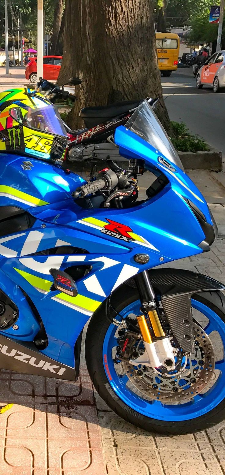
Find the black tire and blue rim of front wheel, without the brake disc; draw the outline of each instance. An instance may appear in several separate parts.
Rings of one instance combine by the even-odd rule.
[[[135,302],[137,302],[136,309],[138,312],[141,303],[137,289],[130,288],[125,284],[122,285],[115,294],[113,294],[112,307],[109,307],[107,317],[110,320],[112,320],[113,317],[119,319],[118,314],[124,314],[123,310],[125,311],[124,315],[129,312],[131,313]],[[197,309],[197,312],[200,309],[201,312],[204,312],[203,315],[206,314],[207,318],[209,317],[209,324],[206,326],[209,328],[209,333],[216,331],[222,335],[221,339],[225,346],[225,296],[220,292],[204,292],[194,296],[192,305],[194,309]],[[131,310],[128,312],[127,309],[129,308]],[[113,309],[117,314],[116,317]],[[188,403],[184,401],[184,404],[167,406],[169,411],[174,413],[174,415],[172,414],[169,417],[166,415],[166,405],[163,403],[161,407],[159,406],[161,415],[157,418],[156,413],[159,411],[157,404],[160,405],[160,401],[153,400],[153,404],[149,404],[146,399],[142,399],[140,411],[137,410],[137,403],[131,403],[131,399],[135,400],[135,398],[137,398],[135,393],[132,393],[131,399],[127,399],[127,401],[124,402],[125,396],[123,394],[121,397],[118,396],[118,386],[122,384],[123,376],[118,381],[115,380],[112,353],[112,361],[110,361],[109,357],[110,352],[108,355],[106,355],[106,353],[104,354],[105,340],[108,338],[107,335],[111,330],[115,332],[117,328],[110,323],[107,317],[103,305],[93,315],[86,335],[85,356],[87,368],[97,392],[115,413],[134,426],[165,435],[189,434],[205,430],[225,419],[225,388],[222,381],[223,378],[221,377],[216,379],[213,389],[208,390],[210,395],[207,395],[207,392],[204,394],[204,397],[200,397],[200,394],[197,396],[193,395],[193,404],[191,404],[190,401]],[[222,372],[222,376],[224,377],[224,357],[221,361],[216,361],[215,368],[216,371]],[[126,391],[127,389],[124,387],[124,394]],[[197,402],[195,402],[195,398],[199,398]],[[202,405],[201,410],[199,410],[200,405]],[[143,409],[143,407],[147,408],[146,413],[148,412],[148,416],[144,415],[145,409]]]

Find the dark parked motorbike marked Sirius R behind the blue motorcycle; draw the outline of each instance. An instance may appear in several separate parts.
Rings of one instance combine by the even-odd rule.
[[[81,79],[71,77],[66,85],[79,85],[81,82]],[[40,78],[37,86],[37,90],[53,103],[61,98],[77,100],[75,95],[65,91],[65,85],[60,87]],[[158,98],[148,98],[148,101],[154,107]],[[115,146],[113,134],[119,125],[125,125],[141,102],[142,100],[123,101],[81,109],[80,117],[84,120],[84,129],[71,130],[66,123],[64,124],[70,139],[65,157],[69,161],[105,160],[106,157],[107,160],[122,161],[119,149]]]

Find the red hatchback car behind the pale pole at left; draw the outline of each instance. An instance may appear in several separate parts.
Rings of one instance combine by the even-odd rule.
[[[43,56],[43,78],[48,80],[58,79],[62,56]],[[30,58],[25,71],[26,79],[37,83],[37,57]]]

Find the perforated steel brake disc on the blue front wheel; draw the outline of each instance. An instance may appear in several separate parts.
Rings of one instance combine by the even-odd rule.
[[[122,363],[132,385],[145,399],[158,399],[164,403],[188,401],[202,393],[209,384],[215,369],[213,345],[196,322],[193,322],[193,328],[195,352],[183,357],[179,371],[170,371],[167,376],[163,376],[156,368]]]

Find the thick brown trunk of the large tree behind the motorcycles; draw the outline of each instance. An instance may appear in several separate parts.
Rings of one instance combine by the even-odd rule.
[[[72,127],[84,106],[159,97],[157,114],[170,133],[162,97],[154,28],[154,0],[66,0],[65,36],[58,84],[83,79],[70,114]]]

